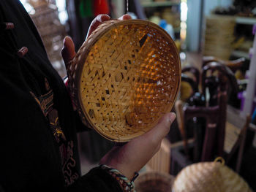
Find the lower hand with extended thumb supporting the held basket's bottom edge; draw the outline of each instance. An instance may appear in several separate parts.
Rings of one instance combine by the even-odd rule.
[[[175,113],[167,113],[157,126],[146,134],[132,139],[123,146],[115,146],[99,162],[105,164],[124,174],[129,180],[135,172],[140,171],[143,166],[154,156],[161,146],[162,139],[170,131],[170,125],[175,120]]]

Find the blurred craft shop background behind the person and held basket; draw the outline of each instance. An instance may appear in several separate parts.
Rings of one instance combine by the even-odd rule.
[[[177,120],[145,169],[175,177],[189,164],[220,155],[256,190],[255,0],[20,1],[61,77],[67,75],[64,37],[72,37],[78,50],[99,14],[127,13],[164,28],[180,53],[181,91],[173,107]],[[83,173],[114,145],[94,131],[79,138]]]

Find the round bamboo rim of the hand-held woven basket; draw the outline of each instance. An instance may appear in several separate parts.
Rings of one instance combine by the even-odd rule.
[[[113,22],[113,23],[110,23],[110,22]],[[77,85],[77,93],[75,94],[77,99],[78,99],[78,107],[80,107],[81,111],[83,112],[83,115],[86,116],[86,120],[88,120],[89,124],[91,125],[91,127],[97,131],[102,137],[105,137],[105,139],[108,139],[110,141],[113,141],[113,142],[129,142],[129,140],[135,138],[135,137],[138,137],[144,133],[146,133],[147,131],[151,130],[151,128],[153,128],[154,126],[157,125],[158,121],[160,118],[162,118],[162,116],[160,115],[159,119],[158,120],[155,120],[154,123],[151,123],[151,128],[148,128],[148,130],[146,131],[138,131],[137,133],[135,134],[132,134],[132,135],[127,135],[127,136],[124,136],[124,137],[116,137],[116,136],[113,136],[113,134],[109,134],[107,132],[105,132],[104,134],[102,133],[102,130],[100,128],[97,128],[97,126],[94,125],[94,123],[91,121],[91,118],[89,117],[89,114],[88,112],[86,112],[86,109],[84,108],[84,106],[81,104],[82,103],[82,99],[81,99],[81,96],[80,96],[80,77],[82,75],[82,69],[83,69],[83,66],[85,64],[85,61],[86,61],[86,58],[90,52],[90,47],[93,47],[94,44],[98,41],[99,38],[101,38],[106,32],[110,31],[112,28],[116,28],[117,26],[123,26],[123,25],[131,25],[131,24],[137,24],[137,25],[145,25],[145,26],[151,26],[153,28],[157,28],[157,31],[161,31],[162,35],[165,36],[166,39],[168,39],[171,44],[169,46],[172,46],[173,47],[173,50],[175,51],[176,54],[175,57],[176,57],[176,61],[178,63],[178,85],[177,85],[177,88],[176,88],[176,91],[175,91],[175,96],[173,97],[173,102],[172,104],[170,104],[170,107],[168,108],[168,112],[170,112],[170,110],[173,108],[173,105],[177,99],[177,96],[178,96],[178,92],[180,90],[180,86],[181,86],[181,61],[180,61],[180,58],[179,58],[179,53],[178,53],[178,49],[176,47],[176,44],[175,42],[173,41],[173,39],[170,37],[169,34],[167,34],[167,31],[165,31],[163,28],[161,28],[160,26],[158,26],[157,24],[155,23],[152,23],[148,20],[139,20],[139,19],[135,19],[135,20],[108,20],[108,21],[105,21],[103,22],[102,24],[104,23],[110,23],[109,26],[106,26],[105,28],[97,31],[94,35],[95,35],[95,38],[92,37],[89,39],[86,39],[85,42],[83,42],[83,45],[80,47],[80,49],[78,50],[78,53],[83,50],[83,54],[79,55],[80,56],[80,59],[78,60],[78,68],[77,70],[75,70],[75,85]],[[77,55],[75,55],[75,58],[73,58],[72,61],[74,60],[77,60]]]

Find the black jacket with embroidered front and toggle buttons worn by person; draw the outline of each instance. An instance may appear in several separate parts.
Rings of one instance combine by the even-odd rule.
[[[0,0],[0,56],[0,191],[121,191],[102,169],[80,176],[83,126],[18,0]]]

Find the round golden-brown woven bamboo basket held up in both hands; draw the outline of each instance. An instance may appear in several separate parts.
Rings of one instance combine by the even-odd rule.
[[[173,39],[146,20],[109,20],[83,43],[67,67],[83,123],[127,142],[170,112],[181,82]]]

